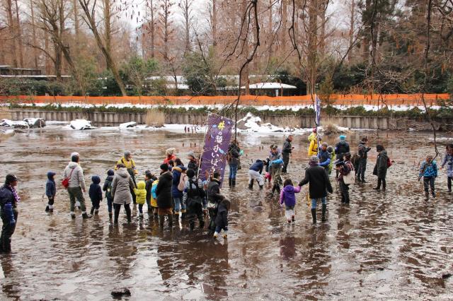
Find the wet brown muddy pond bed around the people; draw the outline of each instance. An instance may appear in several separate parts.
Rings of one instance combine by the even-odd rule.
[[[357,135],[348,136],[353,146]],[[1,179],[16,173],[23,200],[13,254],[0,256],[0,299],[110,300],[117,287],[130,288],[129,300],[452,298],[453,277],[447,274],[453,273],[453,196],[447,194],[444,172],[435,200],[423,201],[417,182],[418,162],[433,153],[429,134],[367,135],[372,146],[383,142],[396,161],[387,191],[372,190],[373,149],[369,183],[352,187],[350,206],[341,206],[336,192],[329,196],[328,221],[316,226],[305,200],[308,187],[297,198],[294,225],[286,224],[275,199],[265,197],[267,189],[247,189],[249,163],[265,158],[270,143],[282,144],[282,136],[241,136],[246,157],[238,185],[223,189],[232,201],[224,241],[202,230],[190,233],[186,223],[161,231],[146,214],[139,221],[136,210],[132,225],[113,227],[105,201],[99,216],[71,220],[61,187],[55,212],[44,212],[46,172],[58,172],[61,182],[71,151],[81,154],[89,181],[95,174],[104,179],[125,149],[133,151],[140,172],[156,171],[168,147],[181,154],[200,151],[202,134],[55,126],[16,134],[0,143]],[[296,136],[294,146],[288,176],[298,182],[306,165],[306,136]],[[123,213],[121,218],[124,222]]]

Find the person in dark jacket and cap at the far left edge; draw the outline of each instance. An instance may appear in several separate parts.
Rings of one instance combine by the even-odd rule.
[[[11,236],[16,230],[18,211],[17,203],[21,201],[16,191],[18,179],[15,175],[6,175],[4,186],[0,187],[0,217],[3,222],[0,237],[0,252],[11,252]]]

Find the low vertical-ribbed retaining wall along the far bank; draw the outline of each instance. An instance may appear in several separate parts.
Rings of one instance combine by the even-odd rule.
[[[167,124],[204,124],[205,114],[166,114]],[[118,126],[125,122],[137,122],[144,124],[145,113],[113,113],[113,112],[63,112],[63,111],[41,111],[41,110],[11,110],[11,119],[22,120],[28,117],[40,117],[45,120],[70,122],[74,119],[87,119],[94,126]],[[243,117],[243,116],[241,116]],[[261,117],[263,123],[270,123],[276,126],[302,126],[305,128],[314,126],[313,116],[294,115],[265,115]],[[322,117],[323,124],[336,124],[350,129],[430,129],[430,125],[416,119],[393,118],[393,117],[360,117],[360,116],[326,116]],[[453,119],[436,120],[437,127],[445,125],[445,129],[451,128]],[[448,125],[448,126],[446,126]],[[444,128],[442,128],[444,129]]]

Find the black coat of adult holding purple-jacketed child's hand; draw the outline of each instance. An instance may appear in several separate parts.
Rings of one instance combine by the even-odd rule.
[[[310,184],[310,199],[321,199],[327,196],[327,191],[333,192],[327,172],[321,166],[311,166],[305,171],[305,178],[299,183],[299,186],[308,183]]]

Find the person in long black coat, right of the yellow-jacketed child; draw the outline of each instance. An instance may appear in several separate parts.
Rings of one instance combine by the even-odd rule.
[[[159,225],[164,228],[165,216],[168,216],[168,225],[173,227],[173,198],[171,187],[173,186],[173,174],[168,171],[168,165],[161,165],[161,176],[156,187],[157,213],[159,214]]]

